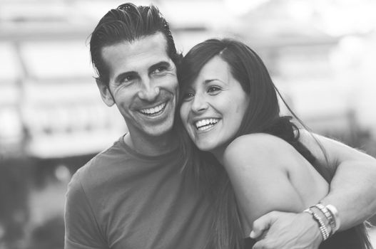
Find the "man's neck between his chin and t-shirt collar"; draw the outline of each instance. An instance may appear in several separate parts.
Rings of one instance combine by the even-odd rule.
[[[127,133],[123,139],[129,147],[146,156],[166,154],[176,149],[178,144],[173,132],[158,137],[132,137],[131,133]]]

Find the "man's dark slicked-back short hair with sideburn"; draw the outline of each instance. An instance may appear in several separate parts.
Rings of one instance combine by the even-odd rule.
[[[90,39],[91,62],[98,80],[105,84],[108,84],[109,80],[108,68],[101,55],[103,47],[123,41],[133,42],[158,32],[166,37],[168,56],[178,66],[181,54],[176,52],[168,22],[156,6],[136,6],[127,3],[108,11],[91,33]]]

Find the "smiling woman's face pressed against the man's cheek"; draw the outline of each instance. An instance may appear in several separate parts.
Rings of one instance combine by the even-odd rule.
[[[198,149],[223,152],[238,132],[248,102],[228,63],[215,56],[183,92],[181,119]]]

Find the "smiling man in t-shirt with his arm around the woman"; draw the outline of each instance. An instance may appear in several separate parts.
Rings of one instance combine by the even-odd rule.
[[[129,132],[73,176],[66,195],[65,248],[204,248],[210,200],[193,176],[181,171],[173,129],[181,55],[168,23],[153,6],[123,4],[99,21],[90,49],[102,100],[118,107]],[[376,211],[375,160],[332,140],[320,141],[337,167],[322,202],[337,207],[341,229],[355,226]],[[305,144],[326,164],[314,144]],[[354,185],[358,181],[362,184]],[[258,244],[265,248],[316,248],[322,241],[307,213],[267,214],[255,223],[253,235],[265,229],[269,233]]]

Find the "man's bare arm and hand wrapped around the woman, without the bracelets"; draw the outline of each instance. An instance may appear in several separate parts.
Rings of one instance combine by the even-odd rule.
[[[320,166],[328,166],[334,171],[330,193],[322,203],[337,208],[340,230],[356,226],[376,213],[376,159],[332,139],[314,136],[325,149],[327,159],[309,132],[301,131],[300,141],[314,154]],[[267,235],[255,248],[283,249],[285,241],[302,233],[307,236],[304,242],[296,245],[297,248],[317,248],[317,241],[322,241],[317,224],[306,213],[267,213],[253,224],[253,238],[266,230]]]

